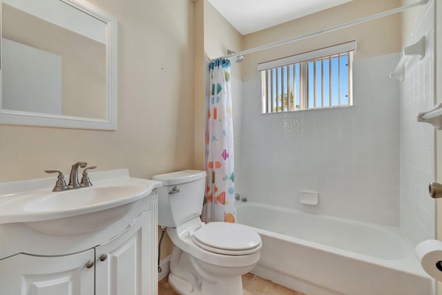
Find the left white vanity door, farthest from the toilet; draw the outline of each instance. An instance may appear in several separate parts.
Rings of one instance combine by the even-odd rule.
[[[57,257],[5,258],[0,260],[0,294],[93,295],[94,258],[94,249]]]

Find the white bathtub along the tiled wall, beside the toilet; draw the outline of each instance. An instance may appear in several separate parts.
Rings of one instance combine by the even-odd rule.
[[[398,229],[238,202],[237,221],[262,238],[253,273],[308,295],[432,295]]]

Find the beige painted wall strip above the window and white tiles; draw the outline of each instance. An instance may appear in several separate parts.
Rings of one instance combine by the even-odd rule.
[[[289,39],[309,32],[316,32],[347,21],[397,8],[398,6],[401,6],[400,0],[354,0],[322,12],[317,12],[314,15],[308,15],[307,17],[246,35],[244,36],[244,48],[255,48],[256,46]],[[296,55],[352,40],[358,41],[358,50],[354,54],[354,59],[398,52],[401,50],[401,17],[398,14],[383,17],[247,55],[243,62],[242,78],[248,80],[252,77],[258,77],[259,73],[256,65],[260,62]]]

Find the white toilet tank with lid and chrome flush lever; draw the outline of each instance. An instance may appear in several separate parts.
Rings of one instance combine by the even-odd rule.
[[[158,190],[158,225],[177,227],[201,215],[206,171],[185,170],[154,175]]]

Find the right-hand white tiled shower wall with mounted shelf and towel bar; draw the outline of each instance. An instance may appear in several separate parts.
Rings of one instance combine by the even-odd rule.
[[[434,130],[416,114],[434,107],[434,3],[418,22],[408,45],[425,36],[425,57],[409,59],[401,83],[401,230],[412,245],[434,238]]]

